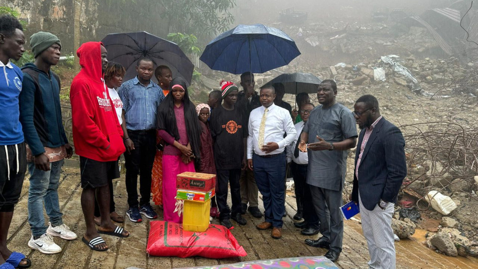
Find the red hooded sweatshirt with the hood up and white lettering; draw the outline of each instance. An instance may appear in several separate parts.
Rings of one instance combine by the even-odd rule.
[[[81,71],[71,83],[70,101],[76,154],[115,161],[124,152],[123,131],[103,79],[101,42],[78,48]]]

